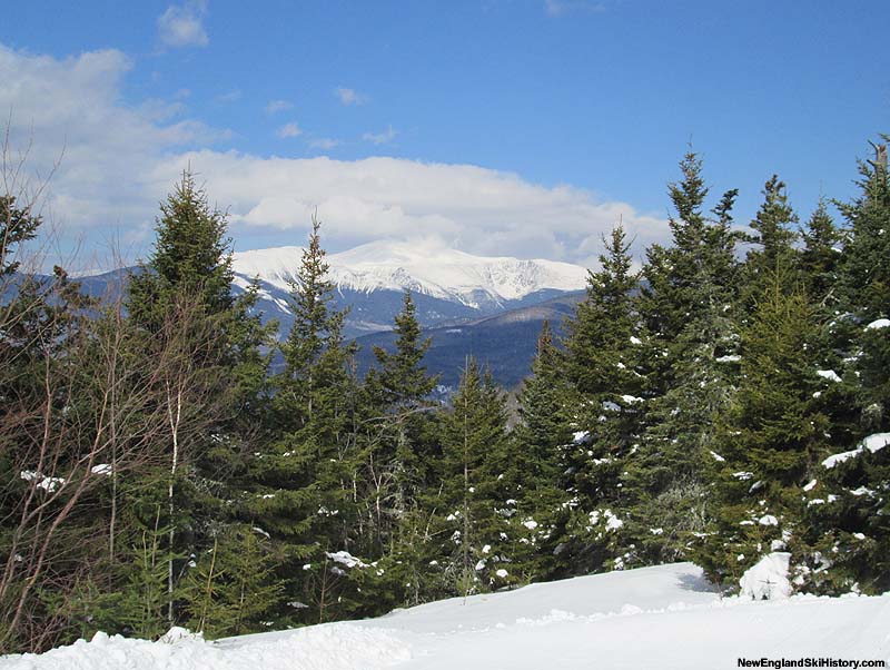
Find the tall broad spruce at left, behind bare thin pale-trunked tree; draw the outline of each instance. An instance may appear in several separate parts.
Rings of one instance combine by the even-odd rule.
[[[172,554],[199,553],[212,543],[214,525],[230,513],[236,475],[244,469],[268,359],[259,353],[270,329],[250,315],[256,287],[231,293],[226,215],[186,171],[160,206],[151,255],[129,276],[126,308],[139,335],[130,346],[145,355],[178,351],[159,378],[169,414],[168,518]],[[273,326],[274,327],[274,326]],[[231,521],[228,519],[228,521]],[[168,566],[168,597],[176,574]],[[175,620],[170,603],[168,623]]]

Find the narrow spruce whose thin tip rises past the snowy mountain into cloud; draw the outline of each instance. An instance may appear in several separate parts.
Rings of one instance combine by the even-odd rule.
[[[284,372],[273,380],[274,440],[249,459],[244,494],[243,513],[270,534],[281,555],[276,572],[284,600],[310,605],[296,612],[279,607],[277,624],[336,617],[329,587],[343,580],[330,579],[338,575],[330,572],[335,565],[326,554],[348,549],[356,519],[355,348],[344,343],[345,313],[329,306],[333,284],[319,227],[313,218],[309,245],[291,284],[295,321],[280,345]]]

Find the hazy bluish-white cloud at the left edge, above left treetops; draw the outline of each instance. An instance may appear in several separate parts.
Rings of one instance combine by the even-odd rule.
[[[113,49],[55,59],[0,45],[0,110],[9,115],[9,145],[30,147],[26,167],[42,177],[60,161],[47,207],[69,228],[150,223],[170,184],[152,183],[151,168],[168,151],[224,136],[180,118],[180,102],[122,105],[120,87],[130,67]]]

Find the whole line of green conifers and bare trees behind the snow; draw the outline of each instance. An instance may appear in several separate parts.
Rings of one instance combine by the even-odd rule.
[[[225,214],[184,174],[126,290],[23,272],[40,216],[0,197],[0,651],[97,630],[207,637],[692,560],[732,592],[890,589],[890,181],[805,224],[770,178],[748,227],[693,152],[669,246],[621,226],[507,430],[472,357],[433,400],[409,293],[359,378],[320,227],[281,341],[233,293]],[[8,189],[9,190],[9,189]],[[271,359],[284,362],[271,372]]]

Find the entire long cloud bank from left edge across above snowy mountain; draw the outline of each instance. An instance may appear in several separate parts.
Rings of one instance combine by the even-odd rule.
[[[85,234],[93,245],[110,230],[128,242],[150,239],[158,201],[187,167],[211,201],[230,211],[240,248],[257,234],[268,245],[300,244],[316,207],[333,249],[387,236],[433,237],[481,254],[581,260],[602,249],[600,236],[620,218],[636,237],[637,254],[669,238],[661,217],[629,204],[472,165],[215,150],[225,134],[182,118],[176,101],[123,105],[129,68],[115,50],[55,59],[0,46],[0,110],[12,110],[10,146],[32,139],[27,167],[41,175],[65,148],[48,214],[66,235]]]

